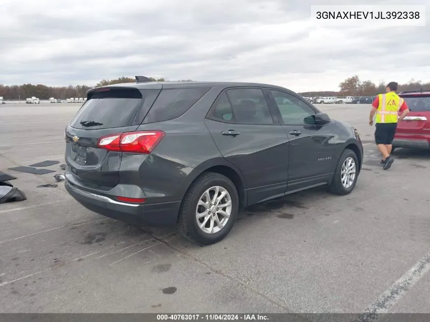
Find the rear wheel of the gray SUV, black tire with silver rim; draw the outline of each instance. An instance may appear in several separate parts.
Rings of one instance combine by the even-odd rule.
[[[219,191],[218,195],[224,194],[224,197],[221,200],[214,200],[215,191]],[[208,201],[205,197],[206,193],[209,193],[210,199],[214,200],[214,203],[211,201],[206,202]],[[202,206],[199,206],[199,203]],[[230,206],[219,208],[218,212],[217,204],[228,203],[230,203]],[[213,207],[210,207],[210,204],[213,204]],[[182,201],[178,222],[179,233],[190,241],[201,245],[218,243],[233,228],[238,210],[239,196],[233,182],[219,173],[204,173],[191,185]],[[209,215],[197,219],[197,214],[200,213],[208,213]],[[228,213],[230,213],[230,216],[223,215]],[[205,220],[206,224],[204,224],[203,228],[200,228],[198,223],[203,224]],[[217,224],[217,221],[219,224]],[[210,229],[211,223],[213,224],[213,231],[209,232],[208,229]]]

